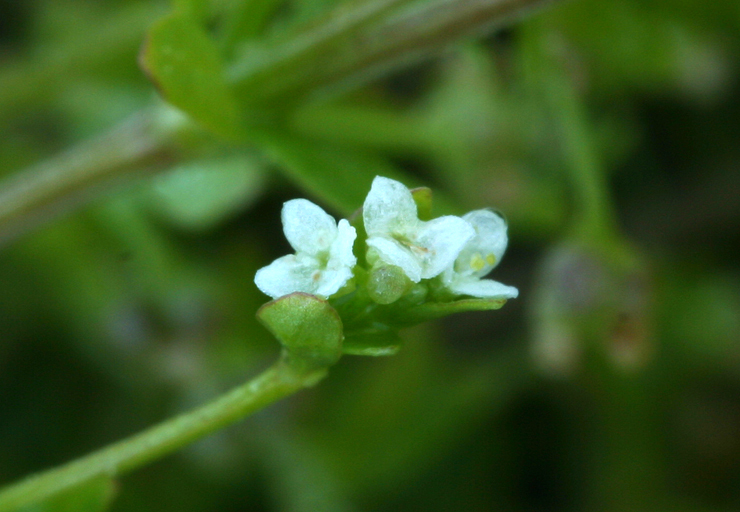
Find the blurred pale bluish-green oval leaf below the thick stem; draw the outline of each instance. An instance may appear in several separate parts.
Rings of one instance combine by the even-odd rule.
[[[249,155],[231,155],[189,162],[158,177],[152,199],[174,224],[203,231],[247,207],[264,185],[261,165]]]

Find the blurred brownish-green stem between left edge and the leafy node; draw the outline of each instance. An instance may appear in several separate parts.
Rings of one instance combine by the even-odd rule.
[[[175,149],[168,136],[173,137],[155,120],[152,110],[138,112],[102,137],[6,179],[0,184],[0,245],[93,191],[166,167]]]

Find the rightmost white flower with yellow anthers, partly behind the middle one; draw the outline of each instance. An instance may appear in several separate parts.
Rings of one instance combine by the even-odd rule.
[[[463,216],[475,229],[453,265],[442,274],[442,282],[458,295],[481,299],[513,299],[519,290],[491,279],[481,279],[501,260],[508,238],[506,222],[489,210],[475,210]]]

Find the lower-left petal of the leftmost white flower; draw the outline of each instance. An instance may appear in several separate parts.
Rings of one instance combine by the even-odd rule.
[[[294,254],[278,258],[262,267],[254,276],[254,283],[273,299],[293,292],[315,293],[318,262],[311,257]]]

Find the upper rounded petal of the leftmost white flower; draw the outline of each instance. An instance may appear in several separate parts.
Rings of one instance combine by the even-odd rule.
[[[283,205],[285,238],[296,250],[312,256],[328,251],[337,236],[334,218],[307,199],[293,199]]]

